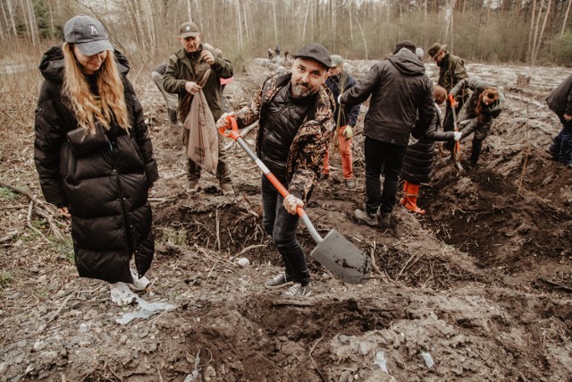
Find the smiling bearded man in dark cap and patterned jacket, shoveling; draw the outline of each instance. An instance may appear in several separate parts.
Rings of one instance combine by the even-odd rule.
[[[297,208],[307,202],[322,169],[335,129],[335,101],[322,86],[332,66],[328,50],[320,44],[307,44],[294,59],[292,72],[267,79],[235,117],[239,128],[259,121],[257,156],[290,192],[282,198],[262,177],[265,231],[272,235],[285,268],[269,278],[265,287],[291,285],[286,295],[304,297],[312,290],[306,255],[296,239]],[[218,120],[217,128],[231,129],[227,116]]]

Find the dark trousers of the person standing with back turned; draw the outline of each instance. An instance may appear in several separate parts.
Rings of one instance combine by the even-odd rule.
[[[403,157],[408,148],[366,137],[366,212],[391,213],[397,195]],[[385,175],[382,183],[380,175]]]

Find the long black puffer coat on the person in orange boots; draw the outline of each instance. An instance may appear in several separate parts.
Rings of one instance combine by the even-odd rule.
[[[401,167],[400,178],[410,183],[429,182],[433,169],[434,142],[436,140],[452,140],[454,132],[439,131],[441,126],[441,113],[435,105],[435,115],[429,125],[429,130],[416,141],[408,146]]]

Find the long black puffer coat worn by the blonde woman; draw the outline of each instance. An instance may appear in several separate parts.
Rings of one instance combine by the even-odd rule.
[[[135,254],[139,276],[151,266],[154,240],[147,189],[158,178],[151,140],[130,81],[127,59],[115,51],[130,114],[130,135],[114,125],[109,145],[76,156],[66,133],[78,122],[63,98],[63,52],[53,47],[42,57],[45,78],[36,109],[34,160],[46,201],[67,206],[80,276],[115,283],[132,282]]]

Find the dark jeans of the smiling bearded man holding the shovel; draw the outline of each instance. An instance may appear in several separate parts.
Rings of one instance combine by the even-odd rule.
[[[279,178],[280,179],[280,178]],[[285,179],[280,179],[286,185]],[[296,240],[299,216],[292,215],[282,206],[282,195],[276,191],[272,183],[262,177],[262,206],[264,209],[262,222],[265,231],[272,236],[282,261],[286,276],[294,283],[307,285],[310,282],[310,271],[307,269],[306,255]]]

